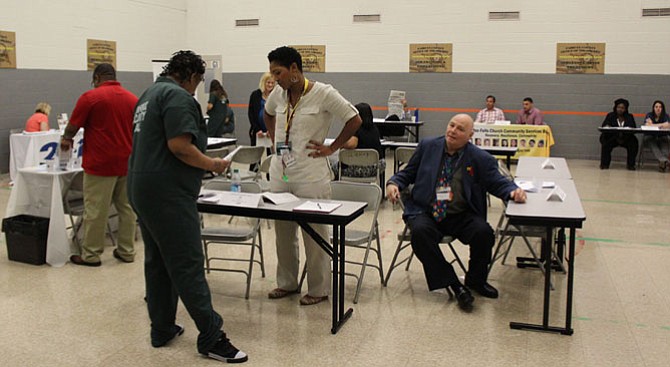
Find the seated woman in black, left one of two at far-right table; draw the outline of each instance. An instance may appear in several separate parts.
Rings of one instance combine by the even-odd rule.
[[[635,118],[628,113],[627,100],[619,98],[614,101],[612,112],[605,116],[602,127],[630,127],[635,128]],[[615,147],[624,147],[628,152],[627,166],[631,171],[635,171],[635,156],[637,156],[637,137],[635,134],[623,132],[603,132],[600,134],[600,169],[610,168],[612,161],[612,150]]]

